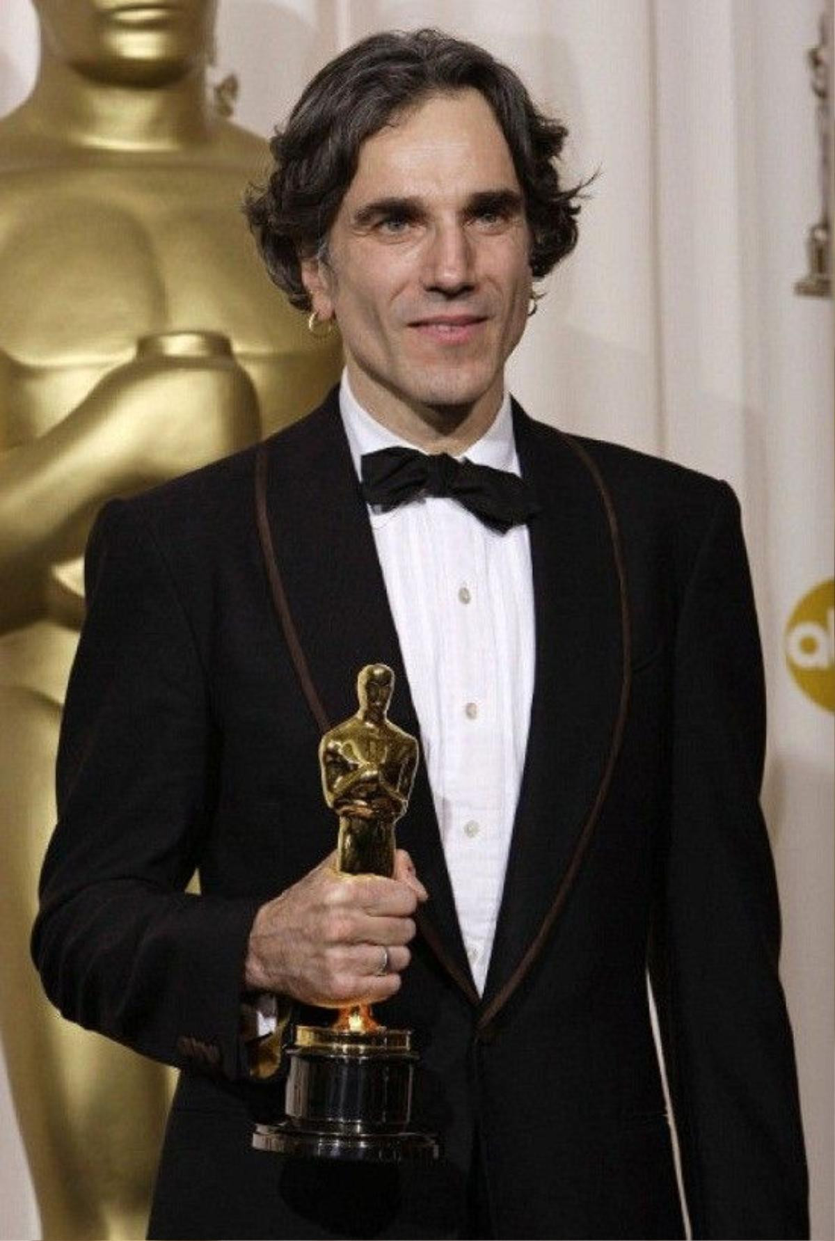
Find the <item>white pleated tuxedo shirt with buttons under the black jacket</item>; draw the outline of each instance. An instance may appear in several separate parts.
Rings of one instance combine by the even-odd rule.
[[[340,411],[360,459],[400,439],[342,376]],[[510,397],[464,454],[520,473]],[[519,800],[534,694],[534,583],[526,525],[506,534],[447,496],[368,508],[421,725],[447,869],[474,982],[488,974]],[[368,658],[373,655],[370,652]],[[397,692],[392,709],[397,724]]]

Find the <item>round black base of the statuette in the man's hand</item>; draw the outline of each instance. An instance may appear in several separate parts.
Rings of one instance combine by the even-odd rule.
[[[437,1138],[409,1127],[409,1030],[298,1026],[288,1056],[287,1119],[256,1126],[257,1150],[370,1163],[438,1158]]]

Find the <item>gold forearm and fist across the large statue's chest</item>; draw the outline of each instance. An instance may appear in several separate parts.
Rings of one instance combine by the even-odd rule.
[[[258,426],[254,388],[231,354],[146,350],[105,375],[43,436],[6,449],[0,633],[42,614],[48,567],[81,555],[107,499],[226,455],[257,439]]]

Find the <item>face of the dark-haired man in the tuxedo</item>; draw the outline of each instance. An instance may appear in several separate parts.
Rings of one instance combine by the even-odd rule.
[[[478,91],[432,96],[364,143],[328,259],[303,264],[357,400],[372,413],[396,402],[404,424],[426,407],[495,412],[525,328],[529,249],[510,150]]]

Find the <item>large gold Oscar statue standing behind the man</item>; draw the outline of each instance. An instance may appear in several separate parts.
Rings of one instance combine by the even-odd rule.
[[[140,1237],[167,1071],[74,1029],[29,963],[93,515],[333,382],[238,210],[264,143],[206,97],[216,0],[36,0],[0,120],[0,1021],[46,1237]],[[280,72],[280,47],[275,72]]]

